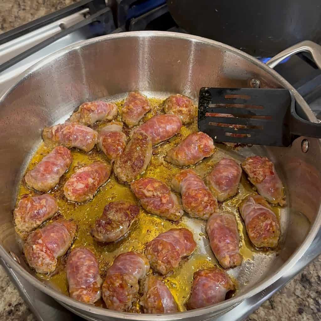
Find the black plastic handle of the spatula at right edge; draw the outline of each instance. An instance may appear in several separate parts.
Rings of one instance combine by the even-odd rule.
[[[291,104],[290,130],[294,135],[321,138],[321,124],[311,123],[301,118],[295,110],[295,104]]]

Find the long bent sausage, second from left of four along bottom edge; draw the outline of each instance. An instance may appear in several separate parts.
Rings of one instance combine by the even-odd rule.
[[[147,258],[137,252],[118,255],[107,271],[102,297],[110,310],[128,311],[139,290],[138,281],[149,271]]]

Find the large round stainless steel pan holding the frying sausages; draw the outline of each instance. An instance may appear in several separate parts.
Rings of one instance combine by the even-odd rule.
[[[305,42],[272,59],[270,66],[298,50],[310,51],[321,65],[319,46]],[[316,121],[299,93],[269,66],[235,48],[195,36],[154,31],[109,35],[67,47],[32,66],[0,99],[0,255],[39,290],[88,320],[206,320],[264,290],[291,270],[320,227],[321,146],[317,139],[309,138],[307,143],[302,137],[290,148],[253,146],[239,155],[234,153],[235,157],[268,155],[281,173],[290,206],[282,213],[278,255],[258,254],[244,264],[238,294],[213,307],[146,315],[77,302],[33,276],[21,256],[12,224],[17,186],[40,142],[42,128],[64,120],[83,101],[122,97],[136,89],[156,97],[180,92],[196,100],[202,86],[247,87],[258,82],[262,88],[291,90],[301,114]]]

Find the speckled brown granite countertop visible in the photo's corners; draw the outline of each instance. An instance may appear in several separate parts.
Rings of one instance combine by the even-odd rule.
[[[18,27],[77,0],[1,0],[0,33]],[[267,300],[247,321],[321,320],[321,256],[282,290]],[[0,320],[36,321],[0,265]]]

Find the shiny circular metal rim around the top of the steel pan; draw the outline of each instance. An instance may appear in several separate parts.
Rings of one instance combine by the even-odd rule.
[[[0,97],[0,103],[4,102],[5,98],[11,91],[13,91],[14,88],[19,86],[21,82],[23,82],[30,74],[37,71],[42,66],[52,63],[55,61],[56,58],[64,56],[66,53],[77,50],[80,48],[84,48],[90,44],[98,43],[101,41],[108,41],[109,39],[121,39],[121,38],[149,38],[149,37],[155,37],[155,38],[171,38],[171,39],[184,39],[192,42],[199,42],[203,44],[208,44],[213,47],[221,48],[222,50],[228,50],[248,61],[253,63],[254,65],[258,66],[259,68],[263,69],[266,73],[272,75],[274,78],[276,78],[282,85],[289,89],[292,94],[294,95],[295,99],[299,102],[301,107],[303,108],[304,112],[307,114],[308,118],[312,122],[317,122],[317,118],[314,116],[313,112],[309,108],[308,104],[305,102],[305,100],[301,97],[301,95],[291,86],[289,82],[287,82],[280,74],[275,72],[273,69],[268,67],[267,65],[263,64],[256,58],[242,52],[239,49],[233,48],[231,46],[228,46],[226,44],[223,44],[218,41],[214,41],[211,39],[206,39],[203,37],[198,37],[194,35],[188,35],[188,34],[181,34],[177,32],[168,32],[168,31],[131,31],[131,32],[123,32],[119,34],[110,34],[105,36],[100,36],[93,39],[83,40],[80,42],[77,42],[73,45],[67,46],[63,49],[60,49],[56,51],[55,53],[50,54],[49,56],[41,59],[36,64],[29,67],[25,72],[20,74],[17,77],[17,80],[14,82],[14,84],[4,92],[4,94]],[[321,148],[321,140],[319,140],[319,145]],[[319,230],[321,223],[321,207],[318,209],[318,213],[316,216],[316,219],[314,223],[310,227],[310,231],[308,235],[306,236],[305,240],[301,244],[301,246],[290,256],[290,258],[275,272],[271,277],[269,277],[267,280],[261,281],[258,284],[254,285],[252,289],[245,292],[244,294],[238,295],[235,298],[231,298],[228,300],[225,300],[221,303],[215,304],[213,306],[207,307],[207,308],[199,308],[195,310],[189,310],[184,312],[177,312],[173,314],[134,314],[134,313],[128,313],[128,312],[118,312],[109,310],[106,308],[100,308],[91,306],[82,302],[79,302],[75,299],[72,299],[65,294],[59,293],[57,290],[51,288],[50,286],[44,284],[40,280],[38,280],[35,276],[31,275],[29,272],[27,272],[25,269],[23,269],[13,258],[12,256],[7,253],[4,248],[0,245],[0,256],[4,259],[4,261],[9,265],[11,269],[14,270],[14,272],[18,273],[21,277],[28,280],[33,286],[35,286],[38,290],[48,294],[52,298],[54,298],[57,301],[61,301],[65,307],[71,306],[73,309],[79,309],[84,311],[84,313],[90,313],[92,315],[104,316],[104,317],[113,317],[118,319],[126,319],[126,320],[143,320],[143,321],[167,321],[167,320],[180,320],[184,318],[192,318],[192,317],[198,317],[202,315],[210,316],[215,311],[222,311],[228,308],[231,308],[232,306],[235,306],[239,304],[241,301],[254,296],[258,292],[263,291],[266,289],[269,285],[274,283],[276,280],[282,277],[283,274],[286,273],[287,270],[291,269],[291,267],[299,260],[299,258],[304,254],[306,249],[310,246],[313,239],[315,238],[317,231]]]

